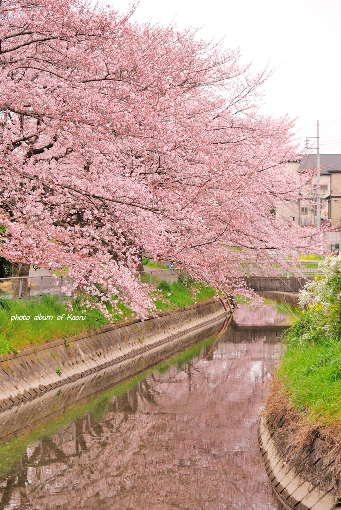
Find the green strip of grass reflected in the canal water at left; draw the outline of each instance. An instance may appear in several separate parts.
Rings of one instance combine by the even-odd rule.
[[[0,474],[6,475],[11,472],[11,470],[15,467],[15,464],[19,461],[19,458],[22,457],[30,444],[34,443],[39,439],[43,439],[53,435],[56,430],[60,427],[68,425],[72,421],[81,418],[85,413],[91,413],[94,420],[98,423],[100,422],[104,416],[106,415],[113,397],[121,397],[128,390],[132,390],[135,388],[140,381],[142,381],[149,373],[159,370],[161,373],[166,372],[173,365],[178,365],[181,369],[182,366],[188,361],[197,358],[200,356],[200,352],[203,347],[208,348],[215,341],[216,337],[211,337],[203,342],[190,347],[184,352],[181,352],[170,360],[161,363],[158,366],[150,367],[147,370],[139,373],[135,377],[123,382],[122,384],[112,388],[101,395],[93,398],[92,400],[86,402],[85,404],[75,407],[71,410],[66,410],[61,416],[57,419],[53,419],[44,425],[36,427],[34,430],[26,433],[24,435],[20,435],[11,441],[3,443],[0,445]],[[62,391],[62,390],[61,390]],[[58,394],[57,394],[58,395]]]

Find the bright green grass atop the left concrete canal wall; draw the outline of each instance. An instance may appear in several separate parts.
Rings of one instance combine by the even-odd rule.
[[[193,287],[193,286],[192,286]],[[160,297],[156,301],[156,308],[165,310],[169,308],[186,307],[195,301],[203,301],[215,295],[212,288],[204,285],[194,285],[190,292],[181,283],[175,282],[170,285],[163,281],[159,284],[159,291],[153,291],[154,295]],[[170,294],[170,296],[167,296]],[[166,301],[165,301],[166,300]],[[82,313],[83,307],[75,300],[73,302],[73,312],[66,310],[65,304],[59,303],[58,296],[43,296],[39,304],[38,299],[31,300],[12,300],[0,299],[0,355],[6,355],[11,352],[17,352],[25,347],[37,346],[53,338],[67,338],[83,331],[96,329],[108,324],[108,320],[97,309],[86,309]],[[120,305],[123,314],[118,312],[113,315],[113,322],[121,322],[122,317],[130,317],[132,312]],[[35,320],[37,316],[53,316],[51,320]],[[57,320],[59,316],[65,314],[64,318]],[[67,320],[68,314],[75,316],[84,316],[85,320]],[[12,320],[12,317],[30,316],[29,320]]]

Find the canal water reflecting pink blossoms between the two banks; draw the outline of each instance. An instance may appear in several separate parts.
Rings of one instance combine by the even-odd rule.
[[[238,310],[218,339],[13,438],[0,509],[278,510],[257,425],[289,323]]]

